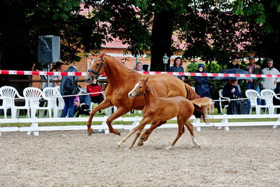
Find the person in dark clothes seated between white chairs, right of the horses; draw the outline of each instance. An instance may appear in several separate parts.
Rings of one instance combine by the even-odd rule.
[[[237,87],[238,80],[228,80],[227,84],[222,89],[222,96],[230,99],[241,98],[241,94]],[[241,106],[240,101],[230,101],[227,108],[227,115],[240,115]]]

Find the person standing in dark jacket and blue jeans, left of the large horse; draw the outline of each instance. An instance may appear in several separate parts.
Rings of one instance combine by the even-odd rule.
[[[75,65],[71,65],[65,72],[78,72]],[[74,117],[74,99],[75,95],[78,93],[76,82],[78,81],[77,76],[63,76],[60,84],[60,94],[63,97],[65,106],[62,110],[62,114],[60,117],[66,117],[68,113],[68,117]],[[69,110],[69,111],[68,111]]]

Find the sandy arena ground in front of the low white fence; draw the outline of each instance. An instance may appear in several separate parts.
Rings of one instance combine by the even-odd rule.
[[[239,127],[188,131],[165,150],[177,129],[156,129],[144,146],[115,145],[128,134],[85,131],[2,133],[0,186],[280,186],[280,129]]]

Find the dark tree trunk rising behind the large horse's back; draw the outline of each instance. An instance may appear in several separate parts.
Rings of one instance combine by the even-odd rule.
[[[171,41],[173,32],[173,12],[161,11],[154,14],[154,22],[152,27],[152,47],[151,47],[151,71],[164,71],[164,63],[162,57],[166,53],[172,56]],[[170,62],[170,60],[169,60]],[[169,69],[169,63],[166,69]]]

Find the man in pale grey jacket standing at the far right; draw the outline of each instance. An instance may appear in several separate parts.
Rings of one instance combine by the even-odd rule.
[[[265,67],[265,69],[262,70],[262,74],[279,75],[280,72],[273,67],[273,60],[269,59],[267,60],[267,67]],[[271,89],[272,91],[274,91],[274,89],[276,89],[277,82],[280,82],[279,78],[274,78],[274,77],[262,78],[262,82],[261,82],[262,89]]]

